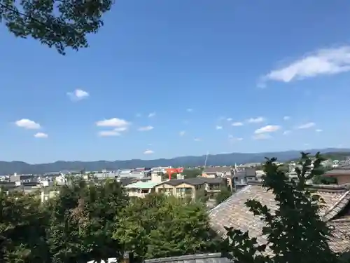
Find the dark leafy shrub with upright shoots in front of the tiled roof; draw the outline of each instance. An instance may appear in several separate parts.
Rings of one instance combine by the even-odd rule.
[[[256,238],[249,238],[248,232],[228,229],[231,241],[226,239],[223,250],[233,252],[232,257],[236,262],[337,262],[335,253],[328,245],[330,229],[318,215],[322,200],[316,194],[311,194],[305,184],[323,173],[323,158],[316,154],[311,170],[308,154],[302,153],[299,161],[302,168],[295,169],[297,182],[290,182],[274,161],[276,159],[268,159],[265,163],[263,185],[274,193],[277,210],[272,213],[266,205],[255,200],[246,202],[251,213],[265,222],[262,234],[267,236],[267,244],[258,245]],[[308,171],[311,173],[306,175]],[[262,253],[266,251],[272,252],[272,255]]]

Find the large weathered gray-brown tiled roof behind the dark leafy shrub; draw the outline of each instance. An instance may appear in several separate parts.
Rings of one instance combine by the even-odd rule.
[[[343,231],[350,231],[350,220],[342,221],[333,220],[335,217],[346,208],[350,200],[350,191],[344,186],[312,186],[316,194],[320,195],[325,201],[324,207],[321,209],[321,216],[325,222],[332,225],[334,237],[330,240],[332,250],[341,252],[350,248],[349,238],[344,238]],[[267,208],[276,210],[276,202],[274,194],[271,191],[266,191],[261,187],[261,184],[254,182],[237,193],[233,194],[228,200],[216,206],[209,212],[211,227],[225,236],[224,227],[234,227],[241,231],[249,231],[251,237],[256,237],[258,243],[266,243],[266,239],[261,235],[264,222],[259,217],[246,208],[244,204],[248,199],[260,201],[262,205],[267,205]]]

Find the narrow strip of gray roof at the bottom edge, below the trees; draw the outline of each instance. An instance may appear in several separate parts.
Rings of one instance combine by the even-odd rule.
[[[222,257],[221,253],[186,255],[180,257],[162,257],[147,259],[145,263],[230,263],[230,259]]]

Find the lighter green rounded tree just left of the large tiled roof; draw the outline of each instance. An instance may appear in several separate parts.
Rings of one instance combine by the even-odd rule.
[[[139,256],[169,257],[213,249],[214,234],[202,203],[150,194],[130,203],[123,214],[114,237]]]

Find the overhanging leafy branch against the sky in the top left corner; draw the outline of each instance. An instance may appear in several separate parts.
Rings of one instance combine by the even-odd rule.
[[[0,22],[5,22],[15,36],[38,39],[57,48],[85,48],[86,36],[103,25],[102,15],[111,0],[0,0]]]

